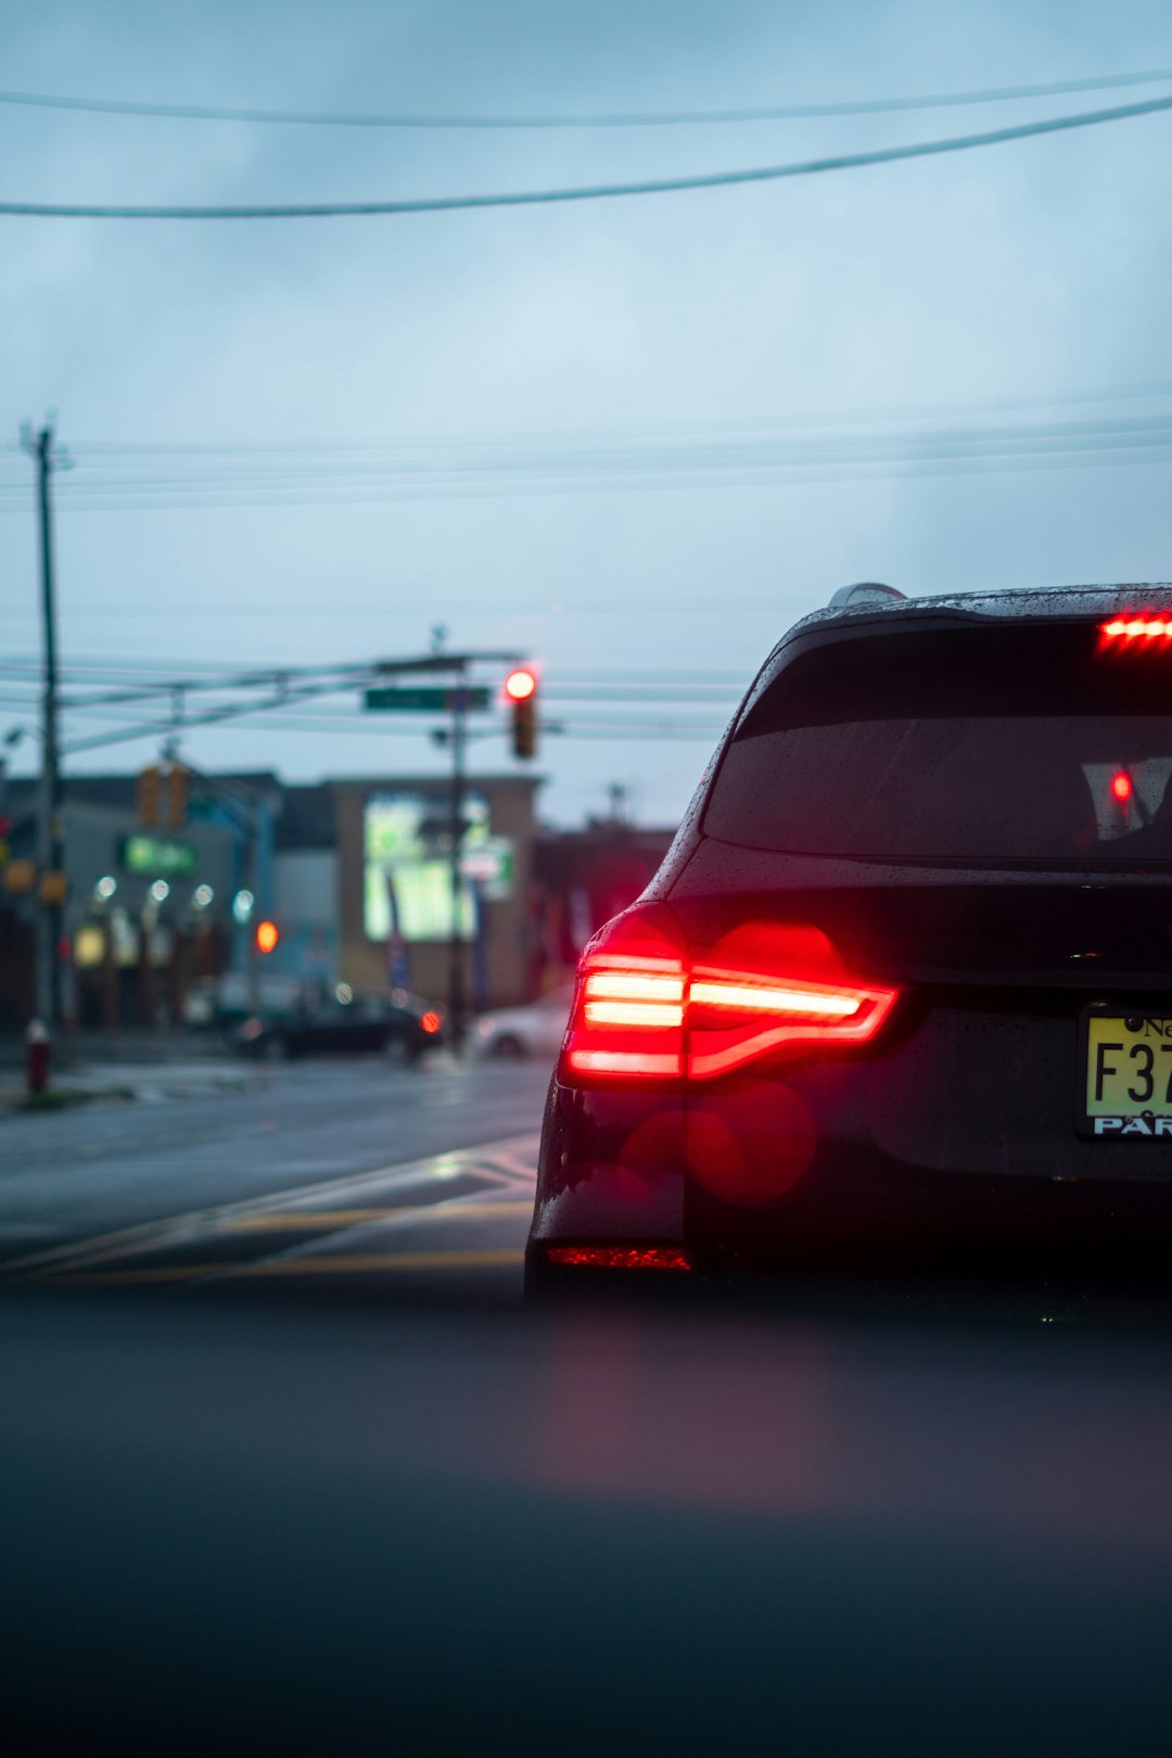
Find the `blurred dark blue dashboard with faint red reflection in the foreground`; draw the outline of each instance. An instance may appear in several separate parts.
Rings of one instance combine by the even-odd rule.
[[[1167,1326],[7,1296],[14,1753],[1160,1753]]]

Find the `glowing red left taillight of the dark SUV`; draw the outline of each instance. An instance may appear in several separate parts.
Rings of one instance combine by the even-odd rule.
[[[636,904],[582,956],[562,1078],[713,1079],[761,1057],[849,1050],[896,995],[842,972],[819,930],[757,923],[689,951],[664,905]]]

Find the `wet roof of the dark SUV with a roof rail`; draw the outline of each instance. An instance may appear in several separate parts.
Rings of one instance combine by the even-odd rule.
[[[891,587],[872,584],[847,587],[822,610],[812,610],[782,636],[782,643],[796,635],[835,626],[875,622],[908,622],[917,617],[951,617],[958,622],[1063,617],[1112,617],[1126,612],[1163,610],[1172,605],[1172,584],[1139,582],[1125,585],[1047,585],[1002,587],[989,592],[942,592],[933,598],[903,598]]]

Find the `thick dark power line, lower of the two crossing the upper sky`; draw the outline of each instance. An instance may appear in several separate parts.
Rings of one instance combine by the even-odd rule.
[[[561,190],[511,190],[497,195],[425,195],[409,200],[369,202],[279,202],[269,206],[127,206],[121,202],[0,202],[0,214],[40,220],[337,220],[378,214],[459,213],[487,207],[541,207],[561,202],[611,200],[629,195],[668,195],[680,190],[715,190],[734,185],[777,183],[782,178],[810,178],[828,171],[857,171],[866,165],[891,165],[905,158],[935,158],[965,153],[980,146],[1002,146],[1042,134],[1091,128],[1098,123],[1128,121],[1172,109],[1172,97],[1144,98],[1142,104],[1118,104],[1112,109],[1079,111],[1074,116],[1049,116],[1044,121],[1017,123],[1012,128],[988,128],[982,134],[951,135],[944,141],[915,141],[908,146],[882,146],[866,153],[836,153],[828,158],[803,158],[787,165],[757,165],[747,171],[712,171],[684,178],[647,178],[638,183],[589,183]]]

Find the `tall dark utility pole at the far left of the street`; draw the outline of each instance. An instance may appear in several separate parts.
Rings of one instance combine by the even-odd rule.
[[[21,431],[25,450],[37,462],[37,508],[40,517],[40,621],[44,631],[44,696],[40,742],[40,812],[37,839],[37,865],[42,875],[58,874],[65,860],[61,826],[61,772],[58,763],[56,724],[56,608],[53,582],[53,508],[49,478],[56,466],[53,455],[53,424],[46,420],[40,432]],[[58,944],[61,939],[61,904],[40,904],[37,911],[37,1014],[56,1030],[61,1023],[61,965]]]

